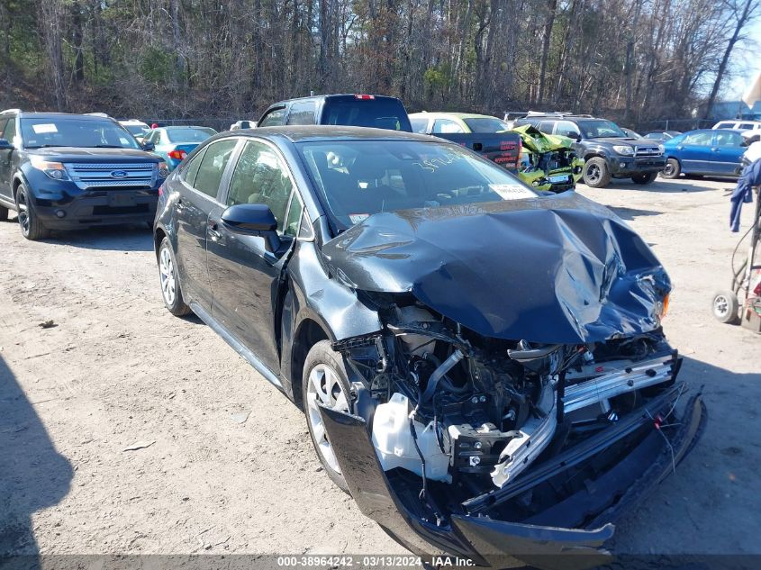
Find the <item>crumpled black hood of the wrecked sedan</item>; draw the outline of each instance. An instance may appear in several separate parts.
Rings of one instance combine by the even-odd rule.
[[[671,289],[648,245],[574,192],[376,213],[322,253],[351,288],[411,292],[501,339],[572,344],[653,330]]]

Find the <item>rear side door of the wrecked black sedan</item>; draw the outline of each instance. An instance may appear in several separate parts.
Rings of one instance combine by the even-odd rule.
[[[211,310],[212,289],[206,268],[206,228],[212,213],[222,213],[217,201],[220,184],[238,140],[209,144],[180,173],[177,212],[177,265],[187,302]]]

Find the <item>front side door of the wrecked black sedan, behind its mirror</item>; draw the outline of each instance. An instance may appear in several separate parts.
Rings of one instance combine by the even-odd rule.
[[[232,336],[276,373],[276,301],[280,275],[301,222],[303,202],[285,159],[264,140],[246,140],[231,173],[224,205],[267,204],[275,214],[283,247],[265,249],[264,238],[225,227],[222,212],[209,218],[208,267],[212,314]]]

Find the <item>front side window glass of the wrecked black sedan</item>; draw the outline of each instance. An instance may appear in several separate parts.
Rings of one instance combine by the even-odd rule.
[[[263,142],[249,140],[232,173],[227,205],[267,204],[275,214],[277,229],[283,231],[293,189],[288,171],[275,150]]]

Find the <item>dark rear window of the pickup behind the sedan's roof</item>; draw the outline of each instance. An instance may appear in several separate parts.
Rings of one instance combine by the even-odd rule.
[[[407,112],[398,99],[328,98],[322,107],[321,124],[412,131]]]

